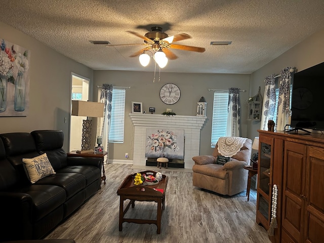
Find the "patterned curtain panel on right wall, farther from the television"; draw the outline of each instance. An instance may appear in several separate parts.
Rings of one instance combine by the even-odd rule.
[[[261,130],[268,130],[268,120],[274,119],[275,111],[275,83],[274,74],[264,78],[265,90],[261,115]]]

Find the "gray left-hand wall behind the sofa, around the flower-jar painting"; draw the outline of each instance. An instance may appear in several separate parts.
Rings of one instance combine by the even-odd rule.
[[[93,70],[0,22],[0,38],[30,51],[29,102],[26,117],[0,117],[0,133],[58,129],[68,150],[71,72],[92,79]],[[67,123],[64,123],[67,117]]]

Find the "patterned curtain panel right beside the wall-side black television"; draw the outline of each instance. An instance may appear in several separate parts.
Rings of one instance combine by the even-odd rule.
[[[285,126],[290,123],[290,69],[292,67],[286,67],[281,70],[281,81],[279,87],[277,119],[275,123],[275,129],[278,131],[284,131]]]

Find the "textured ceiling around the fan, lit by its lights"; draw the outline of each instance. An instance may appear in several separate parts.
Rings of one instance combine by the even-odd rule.
[[[169,36],[187,33],[176,44],[206,48],[204,53],[172,50],[163,72],[251,73],[324,28],[323,0],[0,0],[0,21],[34,37],[92,69],[153,71],[129,57],[152,26]],[[0,33],[0,37],[1,33]],[[211,46],[211,41],[231,41]]]

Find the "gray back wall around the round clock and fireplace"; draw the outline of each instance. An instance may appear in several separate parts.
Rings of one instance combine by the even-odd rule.
[[[181,60],[179,60],[181,61]],[[140,65],[140,64],[139,64]],[[198,73],[164,73],[161,72],[160,82],[153,83],[153,72],[134,71],[94,71],[94,87],[97,85],[112,84],[114,86],[130,86],[126,89],[125,111],[125,141],[124,144],[109,144],[109,159],[125,159],[125,153],[133,159],[133,126],[130,120],[132,101],[142,102],[143,110],[148,112],[149,107],[155,107],[155,114],[161,114],[167,108],[173,109],[177,115],[196,115],[197,102],[204,96],[207,101],[207,120],[200,134],[200,154],[212,154],[211,130],[214,92],[208,89],[224,89],[230,87],[249,90],[250,74],[198,74]],[[159,98],[160,88],[174,83],[181,90],[181,98],[174,105],[167,105]],[[98,89],[99,90],[99,89]],[[94,92],[94,100],[98,97]],[[247,136],[247,100],[249,92],[240,93],[242,107],[242,136]]]

